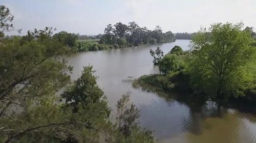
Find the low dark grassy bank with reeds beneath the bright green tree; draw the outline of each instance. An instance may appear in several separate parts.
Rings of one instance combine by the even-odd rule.
[[[177,100],[198,100],[202,101],[215,101],[219,105],[228,108],[237,108],[243,112],[249,112],[256,115],[256,94],[255,89],[247,89],[245,96],[242,97],[230,97],[227,101],[217,101],[210,99],[204,93],[198,92],[191,88],[189,85],[189,73],[185,70],[181,70],[176,73],[161,75],[143,75],[133,82],[134,88],[141,88],[143,91],[155,92],[157,94],[175,95]],[[178,96],[177,96],[178,95]],[[191,102],[191,101],[190,101]],[[190,103],[187,102],[187,103]]]

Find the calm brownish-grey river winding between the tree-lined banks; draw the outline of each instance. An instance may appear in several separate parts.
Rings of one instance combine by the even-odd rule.
[[[159,46],[167,53],[175,45],[187,50],[189,40],[77,53],[68,59],[69,65],[74,67],[71,77],[76,79],[83,66],[92,65],[99,77],[98,85],[114,110],[121,95],[131,92],[131,101],[141,110],[140,126],[154,131],[158,142],[256,142],[256,116],[218,107],[212,101],[184,102],[172,95],[145,92],[125,81],[128,76],[138,78],[157,73],[150,49]]]

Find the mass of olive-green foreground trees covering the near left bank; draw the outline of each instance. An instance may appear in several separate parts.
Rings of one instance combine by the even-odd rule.
[[[113,122],[92,66],[71,81],[65,57],[76,35],[46,27],[9,38],[13,16],[5,6],[0,16],[0,142],[154,142],[138,126],[130,93],[117,102]]]

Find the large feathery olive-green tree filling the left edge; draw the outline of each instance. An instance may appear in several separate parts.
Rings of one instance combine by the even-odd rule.
[[[4,39],[0,44],[2,142],[30,136],[36,140],[40,133],[51,134],[49,127],[53,130],[53,126],[71,125],[61,118],[57,121],[50,117],[58,109],[52,104],[53,95],[70,81],[67,73],[72,67],[61,58],[70,50],[49,35],[50,28],[28,33],[26,38]],[[63,115],[61,111],[58,113]]]

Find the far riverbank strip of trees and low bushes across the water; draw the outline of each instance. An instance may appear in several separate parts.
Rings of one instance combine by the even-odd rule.
[[[135,22],[130,22],[128,25],[121,22],[114,26],[112,24],[107,25],[104,34],[96,36],[96,38],[100,38],[100,41],[93,41],[93,37],[67,32],[59,32],[55,35],[58,35],[59,40],[78,52],[139,46],[141,44],[161,44],[176,40],[172,32],[163,33],[160,26],[156,26],[155,30],[151,31],[146,27],[140,27]],[[87,40],[82,41],[82,39]]]

